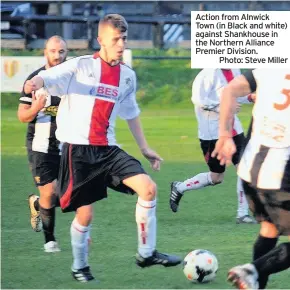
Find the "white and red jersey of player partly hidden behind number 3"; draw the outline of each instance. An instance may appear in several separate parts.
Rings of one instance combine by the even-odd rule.
[[[239,69],[203,69],[192,84],[191,100],[195,106],[198,121],[198,138],[216,140],[219,132],[220,97],[224,87],[235,77]],[[250,103],[248,96],[238,99],[240,103]],[[234,116],[233,136],[243,133],[243,127],[237,115]]]

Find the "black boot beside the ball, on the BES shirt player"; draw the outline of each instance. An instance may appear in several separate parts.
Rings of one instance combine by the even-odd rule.
[[[167,255],[154,251],[152,256],[143,258],[139,253],[136,254],[136,264],[141,268],[154,265],[162,265],[164,267],[172,267],[180,264],[182,259],[177,256]]]

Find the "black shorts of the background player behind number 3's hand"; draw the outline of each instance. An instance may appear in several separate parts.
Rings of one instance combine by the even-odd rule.
[[[237,152],[233,155],[232,162],[234,165],[237,165],[240,162],[241,154],[245,145],[244,133],[236,135],[233,139],[237,147]],[[225,172],[226,167],[224,165],[220,165],[220,161],[216,157],[215,158],[211,157],[211,154],[214,150],[216,142],[217,140],[201,140],[200,139],[200,147],[202,149],[204,159],[210,171],[214,173],[223,173]]]

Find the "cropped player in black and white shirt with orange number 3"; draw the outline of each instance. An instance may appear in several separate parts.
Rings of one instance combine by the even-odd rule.
[[[253,261],[232,268],[228,280],[239,289],[264,289],[271,274],[290,267],[290,70],[256,69],[223,91],[219,140],[212,155],[228,164],[236,152],[231,135],[235,98],[257,91],[252,132],[238,175],[256,219],[261,222]]]

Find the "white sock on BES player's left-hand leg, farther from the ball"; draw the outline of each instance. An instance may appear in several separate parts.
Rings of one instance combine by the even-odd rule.
[[[74,270],[79,270],[88,266],[88,252],[89,252],[89,240],[90,240],[91,226],[82,226],[75,218],[71,224],[71,245],[73,253],[73,265]]]

